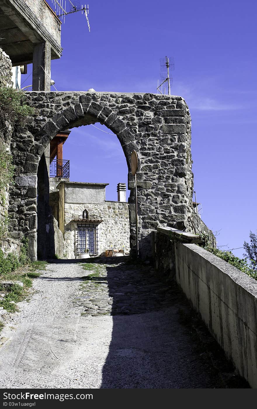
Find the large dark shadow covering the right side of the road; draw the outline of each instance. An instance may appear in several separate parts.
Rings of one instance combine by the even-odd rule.
[[[92,277],[91,282],[99,288],[107,279],[109,297],[97,290],[96,299],[112,300],[112,341],[101,388],[248,387],[240,377],[231,384],[232,364],[175,281],[159,279],[150,266],[134,265],[125,257],[86,262],[106,265],[107,277]],[[97,310],[92,315],[97,316]],[[192,336],[192,324],[202,331],[203,344]],[[216,358],[210,357],[206,344]]]

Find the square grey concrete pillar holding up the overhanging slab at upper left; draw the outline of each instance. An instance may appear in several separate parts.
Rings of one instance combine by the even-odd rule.
[[[40,43],[35,45],[33,51],[33,91],[51,90],[51,45]]]

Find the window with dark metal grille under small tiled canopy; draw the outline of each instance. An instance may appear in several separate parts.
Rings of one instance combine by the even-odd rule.
[[[78,225],[78,253],[98,254],[97,225]]]

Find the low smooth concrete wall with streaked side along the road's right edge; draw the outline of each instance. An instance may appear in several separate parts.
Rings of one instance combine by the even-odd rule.
[[[240,375],[257,388],[257,282],[195,244],[176,243],[176,280]]]

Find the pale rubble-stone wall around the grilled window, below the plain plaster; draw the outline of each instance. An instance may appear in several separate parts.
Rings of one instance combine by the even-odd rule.
[[[130,251],[130,222],[128,204],[126,202],[66,203],[64,205],[64,240],[67,243],[67,258],[77,256],[77,225],[87,209],[89,219],[103,220],[98,224],[98,254],[102,254],[111,246]],[[74,219],[76,221],[74,221]],[[85,223],[88,224],[88,223]]]

